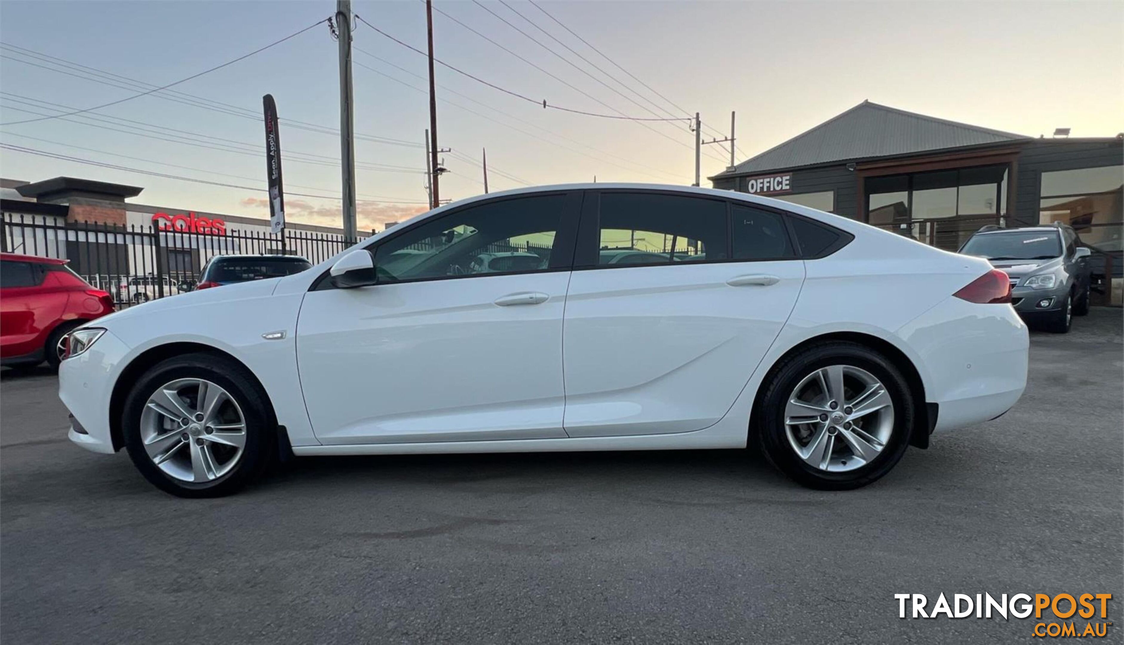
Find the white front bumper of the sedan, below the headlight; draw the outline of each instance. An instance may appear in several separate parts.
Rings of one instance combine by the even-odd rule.
[[[116,452],[109,430],[109,401],[117,366],[127,352],[125,343],[106,331],[83,354],[58,365],[58,398],[74,418],[67,437],[88,451]]]

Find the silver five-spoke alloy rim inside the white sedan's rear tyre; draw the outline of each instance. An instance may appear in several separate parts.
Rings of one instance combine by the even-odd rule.
[[[894,431],[894,401],[881,381],[853,365],[812,372],[785,408],[785,434],[805,463],[846,472],[877,457]]]

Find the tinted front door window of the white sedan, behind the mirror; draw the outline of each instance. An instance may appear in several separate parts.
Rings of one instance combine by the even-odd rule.
[[[505,199],[454,211],[380,244],[380,282],[546,271],[569,196]]]

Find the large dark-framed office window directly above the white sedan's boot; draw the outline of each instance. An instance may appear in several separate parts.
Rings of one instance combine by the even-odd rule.
[[[868,178],[867,221],[955,251],[1006,214],[1007,175],[1003,164]]]

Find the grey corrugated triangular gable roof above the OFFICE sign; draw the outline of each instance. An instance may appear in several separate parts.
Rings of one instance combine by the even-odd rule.
[[[715,176],[1028,139],[863,101]]]

